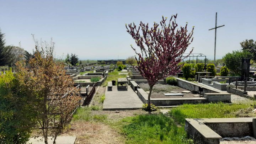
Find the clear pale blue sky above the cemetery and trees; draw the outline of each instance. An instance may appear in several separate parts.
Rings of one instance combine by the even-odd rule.
[[[215,12],[218,12],[216,57],[241,49],[245,39],[256,40],[255,0],[0,0],[0,28],[7,45],[32,52],[37,39],[55,42],[55,55],[75,53],[84,59],[126,59],[133,56],[132,37],[125,23],[152,24],[161,16],[178,14],[178,25],[194,29],[193,53],[214,56]]]

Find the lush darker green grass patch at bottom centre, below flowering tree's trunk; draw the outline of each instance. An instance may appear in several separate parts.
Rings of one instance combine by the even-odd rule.
[[[186,139],[184,128],[177,127],[170,117],[163,114],[127,117],[122,123],[122,133],[128,144],[192,144],[191,139]]]

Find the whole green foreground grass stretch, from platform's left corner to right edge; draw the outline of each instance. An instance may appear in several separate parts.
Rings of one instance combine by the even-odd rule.
[[[102,95],[101,97],[104,97]],[[121,133],[126,143],[136,144],[192,144],[184,129],[185,118],[227,118],[242,117],[244,112],[251,113],[251,104],[183,104],[172,108],[169,116],[164,114],[138,114],[113,121],[106,114],[92,114],[92,110],[101,110],[100,106],[81,107],[73,120],[103,122]],[[250,110],[249,110],[250,109]],[[241,111],[242,110],[242,111]],[[254,116],[252,116],[254,117]],[[181,126],[177,126],[177,124]]]

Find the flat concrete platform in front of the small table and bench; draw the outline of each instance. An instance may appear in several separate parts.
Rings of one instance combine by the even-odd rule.
[[[130,86],[128,86],[128,90],[117,90],[117,86],[113,86],[112,91],[108,91],[106,86],[103,110],[135,110],[142,108],[142,105],[143,102]]]

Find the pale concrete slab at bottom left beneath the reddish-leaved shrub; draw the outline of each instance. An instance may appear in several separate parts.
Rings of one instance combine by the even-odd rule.
[[[52,144],[53,139],[52,137],[48,137],[48,143]],[[40,140],[41,139],[41,140]],[[56,139],[56,144],[75,144],[76,137],[73,136],[58,136]],[[39,138],[30,138],[30,140],[27,143],[32,143],[32,144],[44,144],[44,138],[39,137]]]

